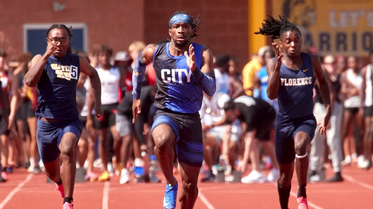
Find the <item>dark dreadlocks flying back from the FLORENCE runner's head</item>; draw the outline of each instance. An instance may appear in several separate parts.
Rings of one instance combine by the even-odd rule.
[[[280,38],[280,36],[287,31],[297,31],[301,33],[297,26],[289,22],[288,19],[280,15],[279,17],[280,20],[276,20],[272,16],[268,15],[267,19],[264,20],[264,23],[261,24],[262,28],[259,28],[259,31],[255,32],[254,34],[272,36],[271,39],[273,41]]]

